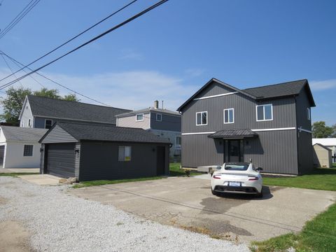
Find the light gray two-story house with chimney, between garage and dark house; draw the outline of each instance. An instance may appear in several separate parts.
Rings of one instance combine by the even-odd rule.
[[[168,109],[160,109],[159,102],[153,107],[138,111],[128,111],[116,116],[117,126],[136,127],[152,132],[158,137],[169,139],[172,147],[170,157],[181,156],[181,114]]]

